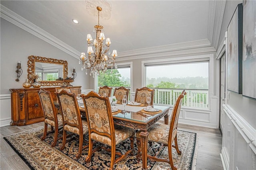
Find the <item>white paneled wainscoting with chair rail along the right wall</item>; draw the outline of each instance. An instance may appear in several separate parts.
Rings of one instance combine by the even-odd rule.
[[[256,129],[224,104],[222,151],[224,170],[256,169]]]

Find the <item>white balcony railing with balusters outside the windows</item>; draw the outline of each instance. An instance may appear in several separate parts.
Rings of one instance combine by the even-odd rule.
[[[112,87],[112,95],[114,89],[118,87]],[[130,88],[130,87],[125,87]],[[154,93],[154,104],[162,105],[174,105],[176,99],[181,94],[183,89],[167,89],[167,88],[150,88],[155,89]],[[209,96],[208,90],[196,90],[196,89],[185,89],[186,96],[182,101],[182,106],[197,107],[208,109],[209,107]],[[130,95],[128,100],[130,100]]]

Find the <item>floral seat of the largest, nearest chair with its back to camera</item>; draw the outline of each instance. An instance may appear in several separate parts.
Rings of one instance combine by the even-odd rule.
[[[135,133],[135,129],[120,126],[120,125],[115,125],[116,145],[128,139],[129,137],[131,137],[134,133]],[[109,137],[98,135],[97,133],[91,133],[91,139],[98,141],[100,143],[104,143],[111,147],[111,139]]]

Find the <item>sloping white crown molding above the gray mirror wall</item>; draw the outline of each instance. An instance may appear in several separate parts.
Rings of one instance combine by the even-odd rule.
[[[26,20],[22,16],[16,14],[12,10],[6,8],[2,4],[0,4],[0,11],[1,11],[0,17],[3,18],[4,20],[9,21],[10,23],[24,29],[25,31],[28,31],[32,35],[35,35],[36,37],[46,41],[47,43],[53,45],[54,47],[57,47],[58,49],[64,51],[65,53],[71,55],[72,57],[75,57],[76,59],[79,58],[79,55],[80,55],[79,51],[67,45],[60,39],[54,37],[50,33],[44,31],[43,29],[36,26],[32,22]]]

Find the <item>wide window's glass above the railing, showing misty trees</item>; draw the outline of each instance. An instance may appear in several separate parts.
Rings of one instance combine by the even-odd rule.
[[[208,62],[146,66],[146,86],[208,90]]]

